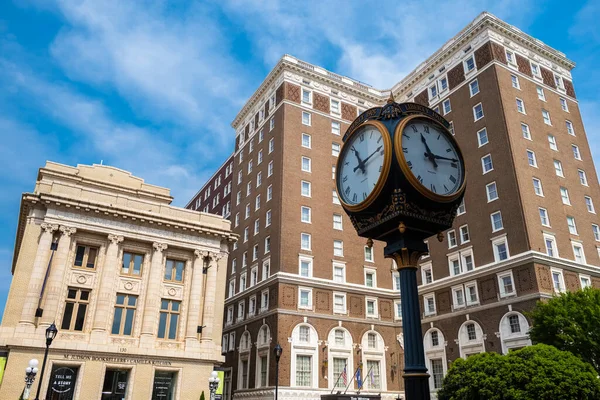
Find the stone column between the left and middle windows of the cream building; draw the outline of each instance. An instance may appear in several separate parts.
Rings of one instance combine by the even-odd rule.
[[[115,296],[115,276],[119,268],[119,243],[123,242],[123,236],[108,235],[108,247],[106,248],[106,257],[102,266],[102,275],[98,286],[98,296],[96,297],[96,312],[94,314],[94,324],[92,325],[92,336],[106,332],[108,321],[110,320],[110,305]]]

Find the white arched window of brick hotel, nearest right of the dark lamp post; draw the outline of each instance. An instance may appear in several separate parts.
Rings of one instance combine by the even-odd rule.
[[[300,323],[292,331],[291,339],[291,386],[318,387],[319,338],[317,331],[308,323]]]

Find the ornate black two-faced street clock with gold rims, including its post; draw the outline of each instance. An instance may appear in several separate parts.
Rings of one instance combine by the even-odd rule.
[[[416,271],[424,239],[452,226],[465,191],[465,164],[450,124],[420,104],[394,102],[362,113],[344,135],[336,187],[359,236],[386,242],[400,272],[407,400],[429,399]]]

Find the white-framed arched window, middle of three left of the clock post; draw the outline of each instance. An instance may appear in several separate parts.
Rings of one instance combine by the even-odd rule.
[[[353,361],[352,335],[350,332],[341,326],[336,326],[329,331],[327,350],[329,388],[345,389],[356,369]],[[343,373],[344,369],[345,374]]]

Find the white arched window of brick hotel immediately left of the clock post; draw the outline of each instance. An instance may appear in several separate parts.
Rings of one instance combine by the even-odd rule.
[[[386,391],[385,343],[379,332],[365,332],[361,340],[361,349],[363,390]]]

